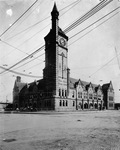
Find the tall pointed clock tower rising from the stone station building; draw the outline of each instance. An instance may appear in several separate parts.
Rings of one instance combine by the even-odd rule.
[[[59,27],[59,12],[54,3],[52,28],[45,39],[45,90],[54,93],[55,99],[67,98],[68,37]]]

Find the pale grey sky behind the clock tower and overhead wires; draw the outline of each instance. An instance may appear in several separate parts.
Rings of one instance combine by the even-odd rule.
[[[7,69],[13,66],[45,44],[44,37],[51,28],[54,0],[38,0],[12,25],[34,2],[35,0],[0,0],[1,67]],[[100,0],[56,0],[60,28],[66,29],[98,3]],[[67,33],[70,76],[100,85],[112,81],[115,102],[120,102],[120,9],[84,32],[71,37],[119,6],[119,0],[113,0],[94,16]],[[2,35],[4,31],[6,32]],[[33,82],[42,78],[44,60],[43,49],[11,70],[28,75],[29,77],[21,75],[23,82]],[[12,90],[18,74],[3,72],[4,69],[1,67],[0,101],[7,99],[12,102]]]

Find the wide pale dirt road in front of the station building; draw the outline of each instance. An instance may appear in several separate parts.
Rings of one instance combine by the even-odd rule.
[[[120,110],[0,114],[0,150],[120,150]]]

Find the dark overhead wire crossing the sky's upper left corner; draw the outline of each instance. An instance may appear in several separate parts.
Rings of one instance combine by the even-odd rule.
[[[38,0],[36,0],[15,22],[13,22],[13,24],[11,26],[9,26],[1,35],[0,37],[2,37],[10,28],[13,27],[13,25],[15,25],[37,2]]]

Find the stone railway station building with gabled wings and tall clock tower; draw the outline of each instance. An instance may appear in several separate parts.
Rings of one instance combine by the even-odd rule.
[[[25,84],[17,77],[13,88],[14,108],[73,111],[114,109],[112,82],[103,86],[70,77],[68,37],[59,27],[59,12],[54,4],[52,28],[45,39],[43,79]]]

